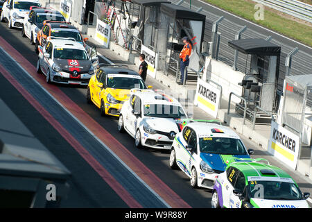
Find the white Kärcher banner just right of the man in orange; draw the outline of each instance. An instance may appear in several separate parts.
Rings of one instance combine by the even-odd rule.
[[[220,96],[219,89],[198,78],[194,104],[214,118],[218,115]]]

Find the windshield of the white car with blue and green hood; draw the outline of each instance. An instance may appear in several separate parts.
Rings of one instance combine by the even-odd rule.
[[[247,155],[241,139],[228,137],[200,138],[200,152],[223,155]]]

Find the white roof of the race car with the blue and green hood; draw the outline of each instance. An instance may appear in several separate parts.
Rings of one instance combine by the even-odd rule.
[[[221,126],[216,123],[207,122],[192,122],[188,123],[185,127],[191,127],[195,130],[198,137],[229,137],[234,139],[241,139],[231,128],[227,126]],[[221,131],[223,133],[218,133]]]

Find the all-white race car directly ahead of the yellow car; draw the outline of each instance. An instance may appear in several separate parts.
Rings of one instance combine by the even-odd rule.
[[[131,89],[130,99],[121,108],[118,129],[134,137],[138,148],[170,150],[184,118],[187,114],[176,99],[151,89]]]

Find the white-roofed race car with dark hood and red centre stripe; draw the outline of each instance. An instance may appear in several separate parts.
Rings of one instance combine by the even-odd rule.
[[[89,55],[73,38],[48,37],[45,46],[39,46],[37,72],[46,76],[47,83],[88,85],[97,64],[96,49]]]

